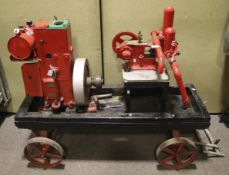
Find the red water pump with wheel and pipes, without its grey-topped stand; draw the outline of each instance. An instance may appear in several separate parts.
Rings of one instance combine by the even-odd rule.
[[[178,69],[175,57],[179,55],[178,42],[175,40],[176,30],[173,27],[174,8],[164,10],[163,27],[151,32],[152,39],[142,42],[141,32],[120,32],[112,41],[112,48],[118,58],[127,62],[125,71],[156,70],[158,74],[164,72],[164,59],[167,58],[176,78],[183,104],[189,106],[182,74]]]

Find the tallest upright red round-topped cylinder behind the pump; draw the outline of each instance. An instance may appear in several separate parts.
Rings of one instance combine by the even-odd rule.
[[[173,17],[174,17],[174,8],[168,6],[164,9],[164,19],[163,19],[163,27],[162,32],[164,34],[166,28],[173,27]]]

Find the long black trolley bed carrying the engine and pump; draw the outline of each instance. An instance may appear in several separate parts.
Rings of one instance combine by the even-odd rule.
[[[173,111],[127,113],[125,103],[120,102],[116,107],[105,108],[97,113],[76,113],[75,111],[53,113],[39,112],[42,99],[25,97],[19,111],[15,115],[15,125],[18,128],[31,130],[73,129],[78,133],[134,132],[150,133],[170,129],[195,130],[205,129],[210,125],[210,117],[194,86],[186,87],[192,106],[189,110],[182,108],[179,89],[170,86],[168,96],[176,99]],[[91,89],[92,95],[112,93],[114,96],[123,95],[123,88],[104,87]],[[168,100],[169,101],[169,100]]]

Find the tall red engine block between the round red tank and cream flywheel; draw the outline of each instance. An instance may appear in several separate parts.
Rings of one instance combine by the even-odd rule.
[[[39,21],[34,26],[34,35],[40,60],[44,98],[46,103],[57,108],[61,98],[63,98],[64,106],[74,101],[72,93],[73,49],[70,28],[48,30],[48,23],[48,21]],[[55,78],[47,75],[50,69],[56,71]]]

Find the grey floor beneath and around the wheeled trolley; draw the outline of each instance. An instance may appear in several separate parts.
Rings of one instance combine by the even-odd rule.
[[[159,170],[154,158],[156,145],[164,136],[151,135],[77,135],[60,133],[59,141],[68,148],[63,169],[38,169],[28,167],[23,158],[25,142],[31,131],[17,129],[13,117],[0,125],[0,174],[1,175],[152,175],[198,174],[229,175],[229,129],[212,117],[210,127],[215,138],[220,138],[224,158],[199,158],[193,169],[179,171]]]

